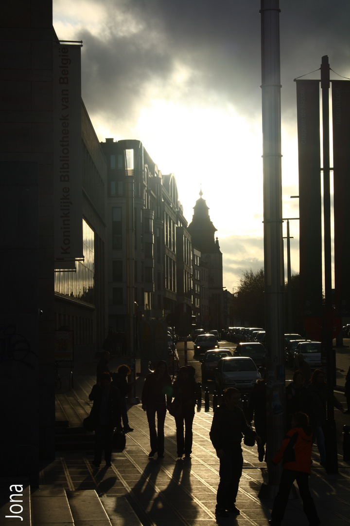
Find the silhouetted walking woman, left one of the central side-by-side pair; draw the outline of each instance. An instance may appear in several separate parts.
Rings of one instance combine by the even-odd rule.
[[[158,458],[164,458],[164,421],[172,395],[172,379],[169,376],[166,362],[161,360],[157,363],[154,372],[146,376],[141,395],[142,409],[146,411],[150,428],[151,452],[149,457],[158,453]]]

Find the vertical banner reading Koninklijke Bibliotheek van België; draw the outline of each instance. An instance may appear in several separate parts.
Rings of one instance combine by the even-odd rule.
[[[83,256],[80,46],[53,47],[55,265],[74,269]]]

